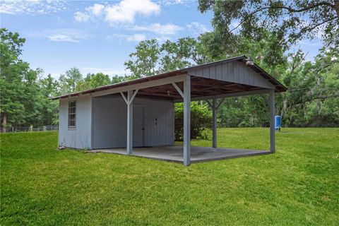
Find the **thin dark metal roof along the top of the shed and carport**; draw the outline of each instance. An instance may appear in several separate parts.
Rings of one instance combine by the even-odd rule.
[[[155,80],[160,79],[160,78],[167,78],[167,77],[170,77],[170,76],[177,76],[177,75],[185,74],[188,71],[191,71],[191,70],[194,70],[194,69],[201,69],[201,68],[204,68],[204,67],[218,65],[218,64],[224,64],[224,63],[231,62],[231,61],[242,61],[245,64],[246,59],[247,59],[247,57],[244,56],[244,55],[243,56],[239,56],[239,57],[232,57],[232,58],[228,58],[228,59],[222,59],[220,61],[213,61],[213,62],[206,63],[206,64],[200,64],[200,65],[197,65],[197,66],[191,66],[191,67],[187,67],[185,69],[179,69],[179,70],[175,70],[175,71],[169,71],[169,72],[166,72],[166,73],[160,73],[160,74],[157,74],[155,76],[148,76],[148,77],[144,77],[144,78],[137,78],[137,79],[133,79],[131,81],[124,81],[124,82],[121,82],[121,83],[114,83],[114,84],[110,84],[110,85],[104,85],[104,86],[100,86],[100,87],[93,88],[93,89],[90,89],[90,90],[83,90],[83,91],[80,91],[80,92],[69,93],[69,94],[60,95],[60,96],[57,96],[57,97],[50,97],[49,99],[51,99],[51,100],[58,100],[58,99],[61,99],[61,98],[74,97],[74,96],[77,96],[77,95],[83,95],[83,94],[88,94],[88,93],[95,93],[97,91],[109,90],[109,89],[118,88],[118,87],[121,87],[121,86],[128,86],[128,85],[133,85],[133,84],[137,84],[137,83],[143,83],[143,82],[147,82],[147,81],[155,81]],[[273,76],[270,76],[270,74],[268,74],[266,71],[261,69],[260,66],[254,64],[254,65],[249,66],[249,67],[251,69],[253,69],[254,71],[256,71],[256,73],[258,73],[261,76],[263,76],[263,78],[268,80],[270,83],[272,83],[275,86],[275,90],[277,92],[285,92],[287,90],[285,85],[283,85],[278,80],[273,78]]]

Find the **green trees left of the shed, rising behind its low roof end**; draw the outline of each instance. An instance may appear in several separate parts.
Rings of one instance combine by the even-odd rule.
[[[42,69],[31,69],[20,59],[25,39],[16,32],[0,29],[0,111],[1,126],[44,126],[58,124],[59,103],[49,97],[96,88],[131,79],[88,73],[72,68],[53,78]]]

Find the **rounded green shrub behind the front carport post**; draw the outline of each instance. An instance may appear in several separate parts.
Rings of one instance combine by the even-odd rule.
[[[184,104],[175,105],[175,140],[184,140]],[[212,121],[212,111],[200,102],[191,102],[191,139],[201,136],[204,129],[210,128]]]

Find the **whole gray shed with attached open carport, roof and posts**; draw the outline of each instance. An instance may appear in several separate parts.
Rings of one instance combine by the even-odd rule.
[[[217,100],[268,93],[270,153],[274,153],[274,93],[285,90],[266,71],[240,56],[51,99],[60,100],[60,146],[88,150],[126,148],[127,155],[133,154],[133,147],[174,145],[174,102],[184,102],[181,161],[189,165],[191,101],[211,100],[212,146],[216,148]]]

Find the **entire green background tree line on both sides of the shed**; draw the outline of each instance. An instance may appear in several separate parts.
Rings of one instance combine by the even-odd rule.
[[[59,104],[48,97],[245,54],[287,86],[286,93],[276,95],[276,112],[283,117],[283,126],[339,126],[339,1],[201,0],[198,9],[213,11],[213,31],[177,41],[139,42],[125,62],[131,76],[112,78],[104,73],[83,76],[76,68],[58,80],[44,77],[42,69],[30,69],[20,59],[25,39],[1,28],[1,124],[57,124]],[[314,61],[306,61],[307,53],[300,49],[292,51],[297,42],[318,37],[320,31],[323,47]],[[192,105],[197,119],[210,117],[206,103]],[[179,112],[180,105],[176,109]],[[225,100],[218,123],[268,126],[265,98]],[[206,121],[199,126],[206,127]]]

